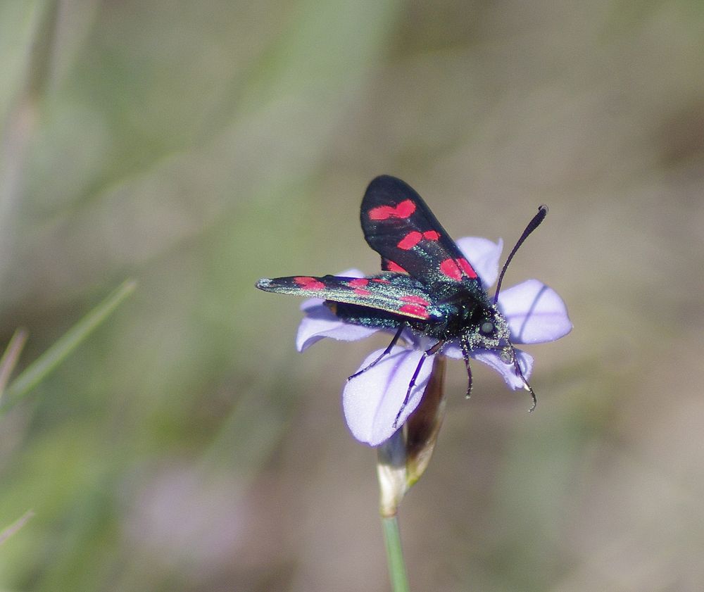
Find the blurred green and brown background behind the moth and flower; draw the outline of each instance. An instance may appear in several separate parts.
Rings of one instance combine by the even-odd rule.
[[[574,330],[539,406],[461,363],[402,506],[421,591],[704,589],[704,4],[0,2],[2,346],[20,369],[126,277],[0,420],[3,591],[385,591],[375,453],[260,276],[378,269],[386,172],[453,236],[515,241]]]

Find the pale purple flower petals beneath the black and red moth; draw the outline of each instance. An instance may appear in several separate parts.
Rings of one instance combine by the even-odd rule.
[[[503,241],[467,237],[457,241],[460,250],[474,267],[482,280],[484,289],[489,288],[498,277],[499,260]],[[344,277],[363,277],[359,270],[347,270]],[[324,337],[341,341],[356,341],[382,330],[360,325],[351,325],[337,318],[318,298],[308,299],[301,306],[306,316],[298,327],[296,348],[303,351]],[[555,341],[572,329],[567,309],[558,294],[537,279],[528,279],[511,288],[503,289],[498,296],[498,308],[503,313],[510,329],[510,340],[516,344],[539,344]],[[406,329],[403,332],[405,346],[395,346],[389,355],[348,381],[342,393],[344,415],[353,436],[370,446],[378,446],[389,439],[398,426],[402,426],[415,410],[425,392],[432,360],[427,359],[418,374],[406,406],[408,384],[423,352],[434,345],[434,341]],[[360,365],[367,367],[384,349],[370,353]],[[533,358],[528,353],[515,349],[515,355],[523,376],[519,376],[513,363],[505,363],[501,351],[475,350],[470,352],[503,377],[511,389],[523,389],[533,370]],[[462,359],[459,344],[446,344],[436,355]],[[432,356],[429,356],[432,358]],[[399,410],[403,407],[401,415]]]

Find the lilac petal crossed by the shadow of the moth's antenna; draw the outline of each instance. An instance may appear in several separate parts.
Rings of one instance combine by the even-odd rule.
[[[498,295],[498,304],[515,344],[555,341],[572,329],[562,298],[537,279],[505,289]]]

